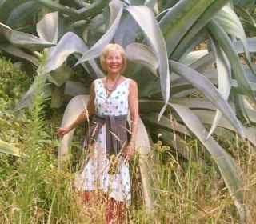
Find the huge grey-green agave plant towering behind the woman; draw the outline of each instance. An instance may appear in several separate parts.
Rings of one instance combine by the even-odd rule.
[[[139,86],[142,120],[137,146],[141,154],[146,206],[150,209],[153,200],[146,162],[146,154],[150,153],[150,135],[162,134],[164,142],[178,147],[182,144],[177,144],[177,141],[182,143],[182,138],[174,138],[174,132],[187,136],[192,133],[214,158],[240,218],[246,222],[248,212],[244,203],[242,170],[211,137],[224,128],[237,132],[256,146],[256,77],[250,58],[250,53],[256,51],[256,41],[254,38],[247,40],[230,1],[113,0],[94,1],[91,5],[74,1],[68,7],[50,0],[34,2],[58,11],[58,16],[46,14],[38,22],[38,35],[45,41],[41,46],[51,46],[47,50],[48,62],[42,75],[48,82],[63,87],[64,93],[77,95],[66,108],[62,126],[74,121],[86,105],[88,95],[84,95],[86,89],[81,84],[69,80],[70,76],[63,77],[63,73],[53,71],[62,66],[73,70],[73,65],[66,61],[72,54],[77,60],[75,66],[82,65],[85,69],[85,76],[100,78],[104,74],[98,68],[97,60],[103,47],[109,42],[121,44],[129,59],[126,75],[134,78]],[[54,26],[55,37],[58,36],[55,42],[44,38],[44,34],[49,33],[50,21],[65,23],[63,20],[68,22],[66,26],[62,24],[62,29],[59,25]],[[1,32],[8,36],[11,29],[1,27]],[[12,38],[6,40],[11,42]],[[206,43],[206,49],[194,51],[194,47],[202,42]],[[15,42],[11,44],[18,50],[23,47]],[[241,54],[246,64],[240,62]],[[63,94],[59,91],[52,93]],[[60,165],[73,134],[74,131],[62,140]],[[177,150],[186,156],[181,147]]]

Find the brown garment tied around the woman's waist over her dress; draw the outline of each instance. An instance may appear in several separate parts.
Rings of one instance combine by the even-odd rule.
[[[127,115],[98,115],[90,118],[86,126],[86,147],[93,145],[98,138],[99,131],[106,124],[106,153],[118,154],[130,136]],[[88,144],[89,143],[89,144]]]

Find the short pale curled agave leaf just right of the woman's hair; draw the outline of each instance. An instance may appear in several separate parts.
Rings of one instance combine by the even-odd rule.
[[[154,75],[158,75],[158,58],[148,46],[141,43],[131,43],[130,45],[126,46],[126,57],[132,62],[140,63],[143,66],[146,66],[146,68],[149,69]]]

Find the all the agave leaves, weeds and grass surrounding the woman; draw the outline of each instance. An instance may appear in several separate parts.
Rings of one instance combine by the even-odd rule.
[[[83,130],[73,142],[55,130],[104,76],[111,41],[139,86],[130,222],[253,220],[255,2],[229,2],[0,1],[0,222],[103,222],[72,186]]]

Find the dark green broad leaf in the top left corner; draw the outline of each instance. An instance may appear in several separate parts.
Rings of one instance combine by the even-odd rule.
[[[14,28],[14,26],[16,26],[18,23],[26,21],[26,19],[30,18],[34,14],[37,14],[40,9],[41,7],[37,2],[24,2],[12,10],[6,24]]]

